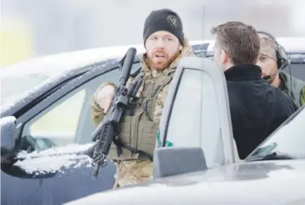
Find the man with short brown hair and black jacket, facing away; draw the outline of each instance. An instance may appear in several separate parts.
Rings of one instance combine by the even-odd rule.
[[[225,72],[232,129],[240,159],[247,157],[297,107],[278,88],[263,80],[259,36],[251,25],[226,22],[212,29],[214,60]]]

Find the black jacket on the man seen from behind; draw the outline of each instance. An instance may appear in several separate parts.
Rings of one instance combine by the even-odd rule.
[[[235,65],[225,71],[233,135],[244,159],[298,107],[280,89],[261,78],[256,65]]]

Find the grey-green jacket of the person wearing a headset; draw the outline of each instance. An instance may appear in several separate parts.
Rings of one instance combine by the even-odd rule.
[[[279,72],[284,93],[290,96],[299,107],[305,104],[305,82],[296,79],[285,72]]]

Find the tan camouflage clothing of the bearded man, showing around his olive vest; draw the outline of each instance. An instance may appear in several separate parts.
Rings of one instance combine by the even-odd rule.
[[[184,47],[182,48],[182,52],[178,56],[178,58],[176,58],[170,64],[170,66],[168,68],[166,68],[163,71],[158,72],[156,70],[149,69],[147,55],[146,55],[146,53],[144,53],[144,55],[142,55],[141,62],[142,62],[142,70],[144,71],[145,78],[153,79],[153,78],[159,77],[162,74],[167,74],[168,72],[172,72],[177,67],[180,58],[183,58],[186,56],[194,56],[192,47],[189,44],[189,41],[187,39],[185,39]],[[130,77],[130,79],[128,79],[128,81],[127,81],[127,84],[130,84],[130,82],[133,79],[134,78]],[[109,83],[109,82],[107,82],[105,84],[101,84],[101,86],[99,88],[97,88],[97,91],[92,96],[91,114],[92,114],[92,119],[94,121],[94,124],[96,126],[97,126],[97,124],[99,124],[101,119],[104,117],[103,110],[97,104],[97,93],[99,93],[99,91],[101,91],[101,88],[103,88],[104,86],[106,86],[108,84],[112,84],[113,86],[116,86],[115,84]],[[160,91],[160,93],[158,93],[158,96],[156,98],[156,102],[154,105],[155,106],[154,121],[156,121],[156,122],[160,121],[164,102],[166,100],[166,95],[168,93],[169,85],[170,84],[165,86]],[[144,85],[140,88],[140,91],[143,89],[143,87],[144,87]],[[113,188],[122,187],[125,185],[131,185],[131,184],[135,184],[135,183],[140,183],[144,180],[149,179],[152,176],[153,166],[152,166],[151,161],[149,161],[149,160],[121,160],[121,161],[116,161],[116,163],[117,163],[116,176],[115,176],[116,183],[113,186]]]

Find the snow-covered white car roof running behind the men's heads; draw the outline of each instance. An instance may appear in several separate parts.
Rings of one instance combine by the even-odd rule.
[[[190,41],[194,53],[212,53],[212,39],[204,41]],[[287,53],[305,53],[305,37],[278,38],[280,45]],[[135,47],[137,53],[144,53],[143,44],[131,44],[125,46],[108,46],[103,48],[91,48],[80,51],[63,52],[54,55],[46,55],[40,58],[32,58],[1,69],[1,77],[24,74],[44,74],[52,76],[67,70],[75,70],[96,62],[122,58],[130,47]]]

